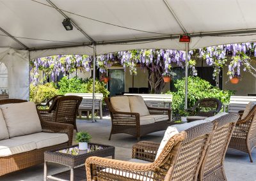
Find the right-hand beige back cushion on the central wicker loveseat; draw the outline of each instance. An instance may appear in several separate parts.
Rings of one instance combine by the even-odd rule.
[[[150,115],[147,105],[141,96],[128,96],[132,113],[140,113],[140,116]]]

